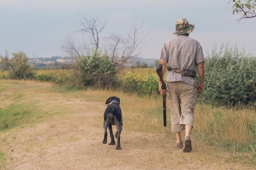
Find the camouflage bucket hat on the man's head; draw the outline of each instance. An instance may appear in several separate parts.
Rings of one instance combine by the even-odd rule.
[[[173,35],[181,35],[191,33],[195,29],[194,24],[189,24],[188,20],[182,18],[175,23],[176,31]]]

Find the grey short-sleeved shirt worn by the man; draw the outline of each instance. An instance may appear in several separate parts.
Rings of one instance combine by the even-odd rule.
[[[160,58],[165,60],[167,68],[196,70],[197,64],[204,62],[202,46],[197,40],[186,35],[178,35],[167,40],[162,47]],[[167,82],[185,82],[197,87],[198,84],[193,77],[183,76],[181,73],[167,71]]]

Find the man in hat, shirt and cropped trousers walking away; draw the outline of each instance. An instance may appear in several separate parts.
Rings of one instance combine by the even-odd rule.
[[[204,91],[204,55],[202,47],[197,40],[189,38],[195,28],[194,24],[182,18],[175,23],[177,35],[167,40],[162,47],[160,58],[163,69],[163,77],[166,73],[166,90],[161,88],[161,95],[168,95],[169,110],[171,111],[171,130],[175,132],[177,142],[176,148],[183,148],[183,152],[190,152],[191,130],[194,125],[194,106],[197,93]],[[196,69],[200,82],[195,80]],[[185,130],[184,146],[181,131]]]

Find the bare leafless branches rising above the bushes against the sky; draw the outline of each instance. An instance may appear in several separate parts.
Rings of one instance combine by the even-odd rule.
[[[82,42],[76,43],[74,38],[67,37],[64,44],[61,46],[63,51],[70,55],[74,60],[77,57],[84,55],[95,56],[99,50],[103,50],[103,53],[111,57],[111,61],[117,66],[118,70],[123,69],[132,58],[135,58],[141,54],[142,44],[146,39],[147,33],[144,35],[144,31],[141,31],[141,25],[133,25],[133,29],[127,33],[126,38],[121,35],[111,34],[105,38],[107,46],[100,46],[99,34],[106,26],[105,22],[100,22],[99,18],[93,18],[88,16],[87,18],[80,15],[81,20],[79,22],[79,30],[87,35],[87,38]],[[73,67],[74,68],[74,67]]]

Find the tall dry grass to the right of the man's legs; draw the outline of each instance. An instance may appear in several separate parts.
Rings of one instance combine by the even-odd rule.
[[[255,164],[255,113],[255,110],[245,108],[198,105],[195,109],[195,136],[232,152],[231,161]]]

